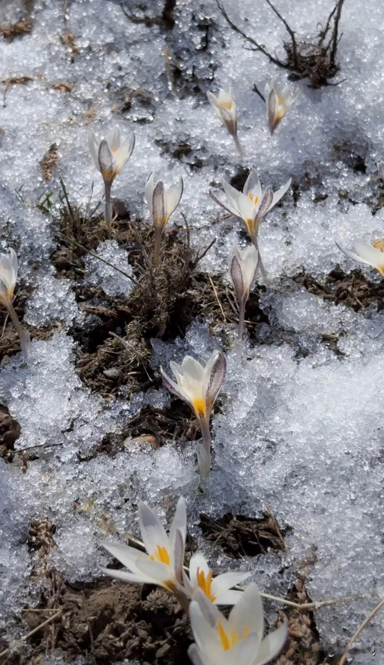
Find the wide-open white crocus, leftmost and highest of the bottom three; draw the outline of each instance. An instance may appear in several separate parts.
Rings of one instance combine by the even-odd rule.
[[[141,501],[138,503],[138,519],[146,553],[129,545],[102,541],[100,545],[129,571],[126,573],[103,568],[102,572],[126,582],[164,587],[174,593],[184,609],[188,608],[188,598],[181,589],[186,539],[186,506],[183,497],[178,500],[169,535],[157,515]]]

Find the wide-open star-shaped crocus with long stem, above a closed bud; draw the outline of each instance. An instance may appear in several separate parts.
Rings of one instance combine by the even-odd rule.
[[[264,279],[266,279],[267,273],[258,247],[259,225],[268,211],[270,211],[270,209],[280,201],[282,196],[286,194],[290,184],[291,178],[289,178],[286,184],[283,185],[280,190],[277,190],[277,192],[273,192],[272,187],[268,187],[263,193],[259,176],[255,169],[251,169],[242,192],[235,190],[235,188],[228,182],[223,182],[224,192],[229,201],[228,203],[222,203],[222,201],[216,198],[211,192],[211,197],[216,203],[224,207],[224,209],[232,215],[240,217],[240,219],[243,219],[246,223],[250,239],[258,250],[260,272]]]

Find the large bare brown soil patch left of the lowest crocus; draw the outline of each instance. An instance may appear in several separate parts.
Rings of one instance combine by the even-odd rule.
[[[192,642],[189,621],[178,602],[162,589],[109,578],[67,584],[57,608],[63,614],[55,624],[54,648],[63,650],[69,661],[83,655],[103,665],[125,658],[138,659],[142,665],[186,663]],[[25,612],[24,618],[33,630],[45,615]],[[41,662],[46,647],[51,648],[51,637],[51,626],[37,632],[31,638],[33,658],[23,665]]]

